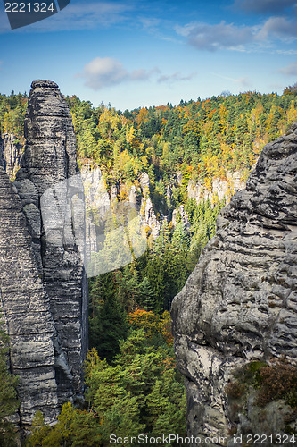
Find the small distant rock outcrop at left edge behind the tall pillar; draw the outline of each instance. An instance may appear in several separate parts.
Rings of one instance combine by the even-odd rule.
[[[4,170],[11,180],[14,180],[21,165],[24,148],[19,139],[12,133],[4,133],[0,138],[0,152],[4,160]]]

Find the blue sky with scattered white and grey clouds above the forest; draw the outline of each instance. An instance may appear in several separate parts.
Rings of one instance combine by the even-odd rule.
[[[0,92],[54,80],[120,110],[297,81],[297,0],[71,0],[10,30],[0,4]]]

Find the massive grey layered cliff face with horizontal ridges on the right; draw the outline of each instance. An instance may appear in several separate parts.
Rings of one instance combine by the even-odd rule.
[[[264,148],[246,190],[222,210],[216,236],[172,303],[194,436],[234,429],[226,388],[236,368],[284,354],[291,361],[297,357],[296,173],[295,124]],[[251,399],[235,417],[233,433],[282,432],[283,423],[269,422],[268,409],[260,423]]]

